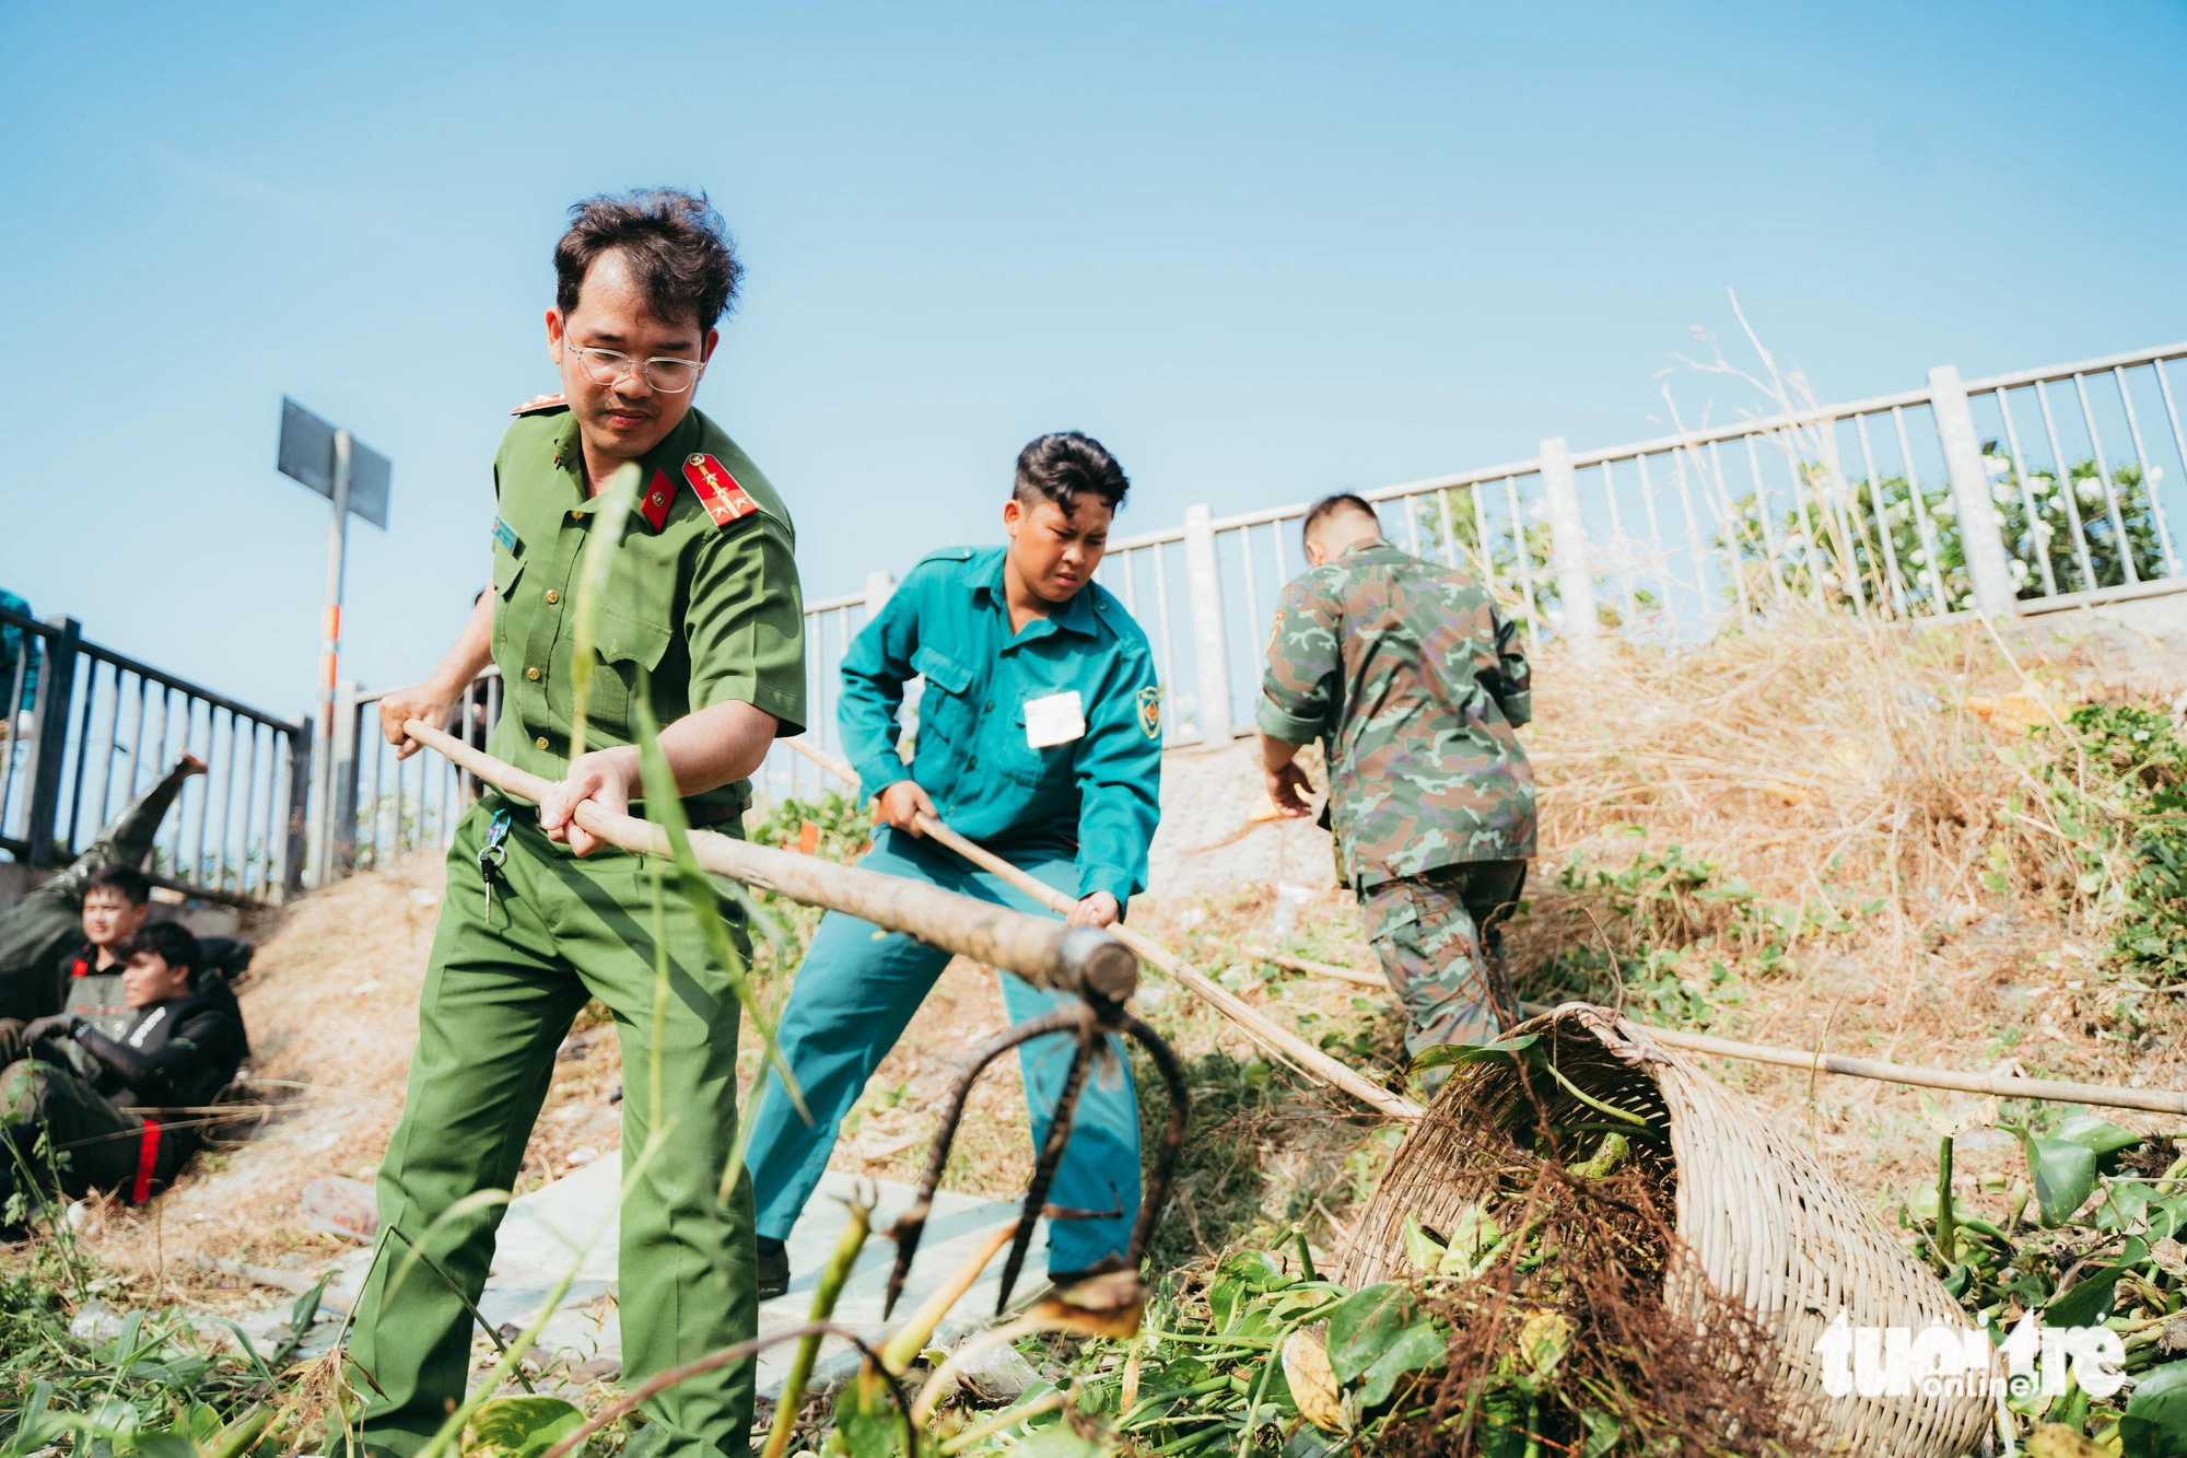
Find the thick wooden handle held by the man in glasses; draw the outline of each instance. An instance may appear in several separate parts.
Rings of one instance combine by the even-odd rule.
[[[547,797],[549,779],[503,764],[424,720],[407,720],[402,729],[505,795],[531,803]],[[630,814],[612,814],[590,801],[577,806],[575,819],[608,845],[636,856],[669,854],[669,836],[660,825]],[[1139,963],[1131,950],[1091,926],[1056,926],[1048,917],[1028,917],[1021,911],[919,880],[862,871],[772,845],[752,845],[711,830],[693,830],[691,849],[698,854],[698,863],[717,876],[776,891],[807,906],[842,911],[960,957],[1008,968],[1037,987],[1122,1003],[1139,985]]]

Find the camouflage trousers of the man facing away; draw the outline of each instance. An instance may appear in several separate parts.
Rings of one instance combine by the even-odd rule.
[[[1367,939],[1404,1005],[1408,1053],[1502,1035],[1500,924],[1524,884],[1524,860],[1472,860],[1360,891]]]

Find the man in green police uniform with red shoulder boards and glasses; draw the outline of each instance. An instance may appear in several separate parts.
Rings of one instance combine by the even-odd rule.
[[[381,703],[400,753],[405,718],[446,722],[488,657],[505,687],[492,753],[558,779],[538,817],[501,795],[470,810],[448,849],[433,959],[418,1005],[402,1123],[381,1165],[381,1219],[420,1239],[475,1191],[510,1189],[555,1046],[586,998],[615,1011],[623,1066],[654,1055],[654,906],[641,858],[571,821],[639,792],[630,701],[650,692],[660,749],[693,823],[739,832],[750,775],[805,722],[805,641],[794,534],[757,466],[691,409],[737,287],[737,261],[704,197],[636,193],[571,208],[555,247],[547,348],[562,394],[518,407],[494,460],[494,591],[433,676]],[[586,744],[569,760],[577,571],[597,495],[623,464],[643,495],[612,558],[597,622]],[[597,852],[597,854],[595,854]],[[741,930],[741,928],[739,928]],[[746,1340],[752,1193],[717,1184],[737,1127],[737,1000],[706,957],[695,915],[667,898],[671,996],[660,1077],[674,1119],[621,1211],[623,1375]],[[643,1084],[641,1084],[643,1086]],[[623,1099],[625,1171],[652,1130],[647,1097]],[[501,1206],[470,1211],[429,1241],[477,1298]],[[389,1289],[394,1241],[356,1309],[350,1359],[370,1384],[367,1449],[416,1454],[464,1395],[470,1318],[424,1265]],[[645,1403],[669,1454],[744,1454],[752,1368],[695,1377]]]

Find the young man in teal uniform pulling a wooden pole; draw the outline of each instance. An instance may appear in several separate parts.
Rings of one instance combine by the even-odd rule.
[[[1017,458],[1017,484],[1002,508],[1008,547],[927,556],[851,644],[838,722],[859,788],[879,801],[884,821],[859,865],[1048,915],[1030,895],[925,841],[916,830],[923,812],[1078,898],[1069,917],[1078,926],[1115,922],[1146,889],[1146,845],[1161,812],[1161,692],[1139,624],[1094,582],[1126,490],[1124,471],[1100,442],[1076,431],[1041,436]],[[916,755],[905,766],[897,709],[914,676],[925,676],[925,690]],[[827,1169],[835,1127],[947,963],[949,952],[855,917],[831,911],[820,922],[779,1029],[814,1121],[790,1108],[770,1075],[746,1149],[763,1296],[787,1289],[783,1241]],[[1010,1022],[1056,1000],[1002,974]],[[1050,1224],[1052,1276],[1102,1268],[1131,1243],[1139,1110],[1122,1040],[1111,1042],[1118,1062],[1087,1079],[1048,1195],[1074,1211]],[[1072,1042],[1061,1035],[1019,1053],[1034,1149],[1069,1062]]]

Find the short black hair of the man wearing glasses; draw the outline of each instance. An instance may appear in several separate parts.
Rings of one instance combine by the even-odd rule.
[[[689,313],[700,333],[713,328],[744,278],[728,225],[704,193],[604,193],[571,204],[569,232],[553,245],[553,302],[562,317],[577,306],[586,269],[617,250],[630,258],[654,317],[674,324]]]

